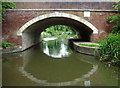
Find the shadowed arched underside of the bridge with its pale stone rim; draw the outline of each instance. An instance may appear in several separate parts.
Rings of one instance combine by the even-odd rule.
[[[25,50],[40,42],[40,35],[43,30],[53,25],[66,25],[75,30],[81,41],[91,41],[92,34],[98,34],[98,30],[88,21],[66,13],[50,13],[36,17],[17,32],[22,36],[22,50]]]

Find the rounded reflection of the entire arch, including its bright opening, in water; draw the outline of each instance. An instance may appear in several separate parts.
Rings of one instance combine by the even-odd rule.
[[[43,53],[49,57],[42,54],[42,52],[39,50],[36,51],[36,49],[32,49],[32,52],[34,52],[33,54],[35,54],[32,56],[44,58],[41,58],[35,62],[35,58],[33,59],[31,58],[32,56],[29,56],[27,64],[19,68],[19,71],[22,73],[22,75],[28,79],[47,86],[75,85],[79,82],[84,81],[86,78],[89,78],[98,69],[97,65],[81,62],[77,57],[73,60],[74,56],[71,56],[71,58],[68,57],[73,52],[71,52],[71,49],[65,45],[63,40],[58,40],[57,38],[47,38],[43,40],[45,40],[42,44]],[[41,54],[38,55],[36,52],[41,52]],[[49,59],[52,57],[66,59]],[[26,55],[25,58],[27,58]],[[38,68],[38,64],[39,67],[41,67],[39,71],[34,69]],[[82,66],[85,68],[85,70],[82,69]],[[46,75],[46,72],[49,75]]]

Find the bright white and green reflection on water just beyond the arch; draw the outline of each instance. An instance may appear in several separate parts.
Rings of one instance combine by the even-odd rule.
[[[62,57],[67,57],[70,55],[70,52],[68,51],[68,46],[65,45],[63,41],[57,40],[56,37],[51,38],[44,38],[44,48],[43,52],[47,54],[48,56],[54,57],[54,58],[62,58]],[[54,41],[51,41],[54,40]],[[45,42],[46,41],[46,42]],[[52,45],[49,45],[52,42]],[[59,45],[58,45],[59,44]],[[52,47],[52,48],[51,48]],[[58,49],[60,47],[60,49]],[[57,48],[57,49],[56,49]],[[56,52],[57,50],[57,52]],[[53,52],[50,52],[53,51]]]

